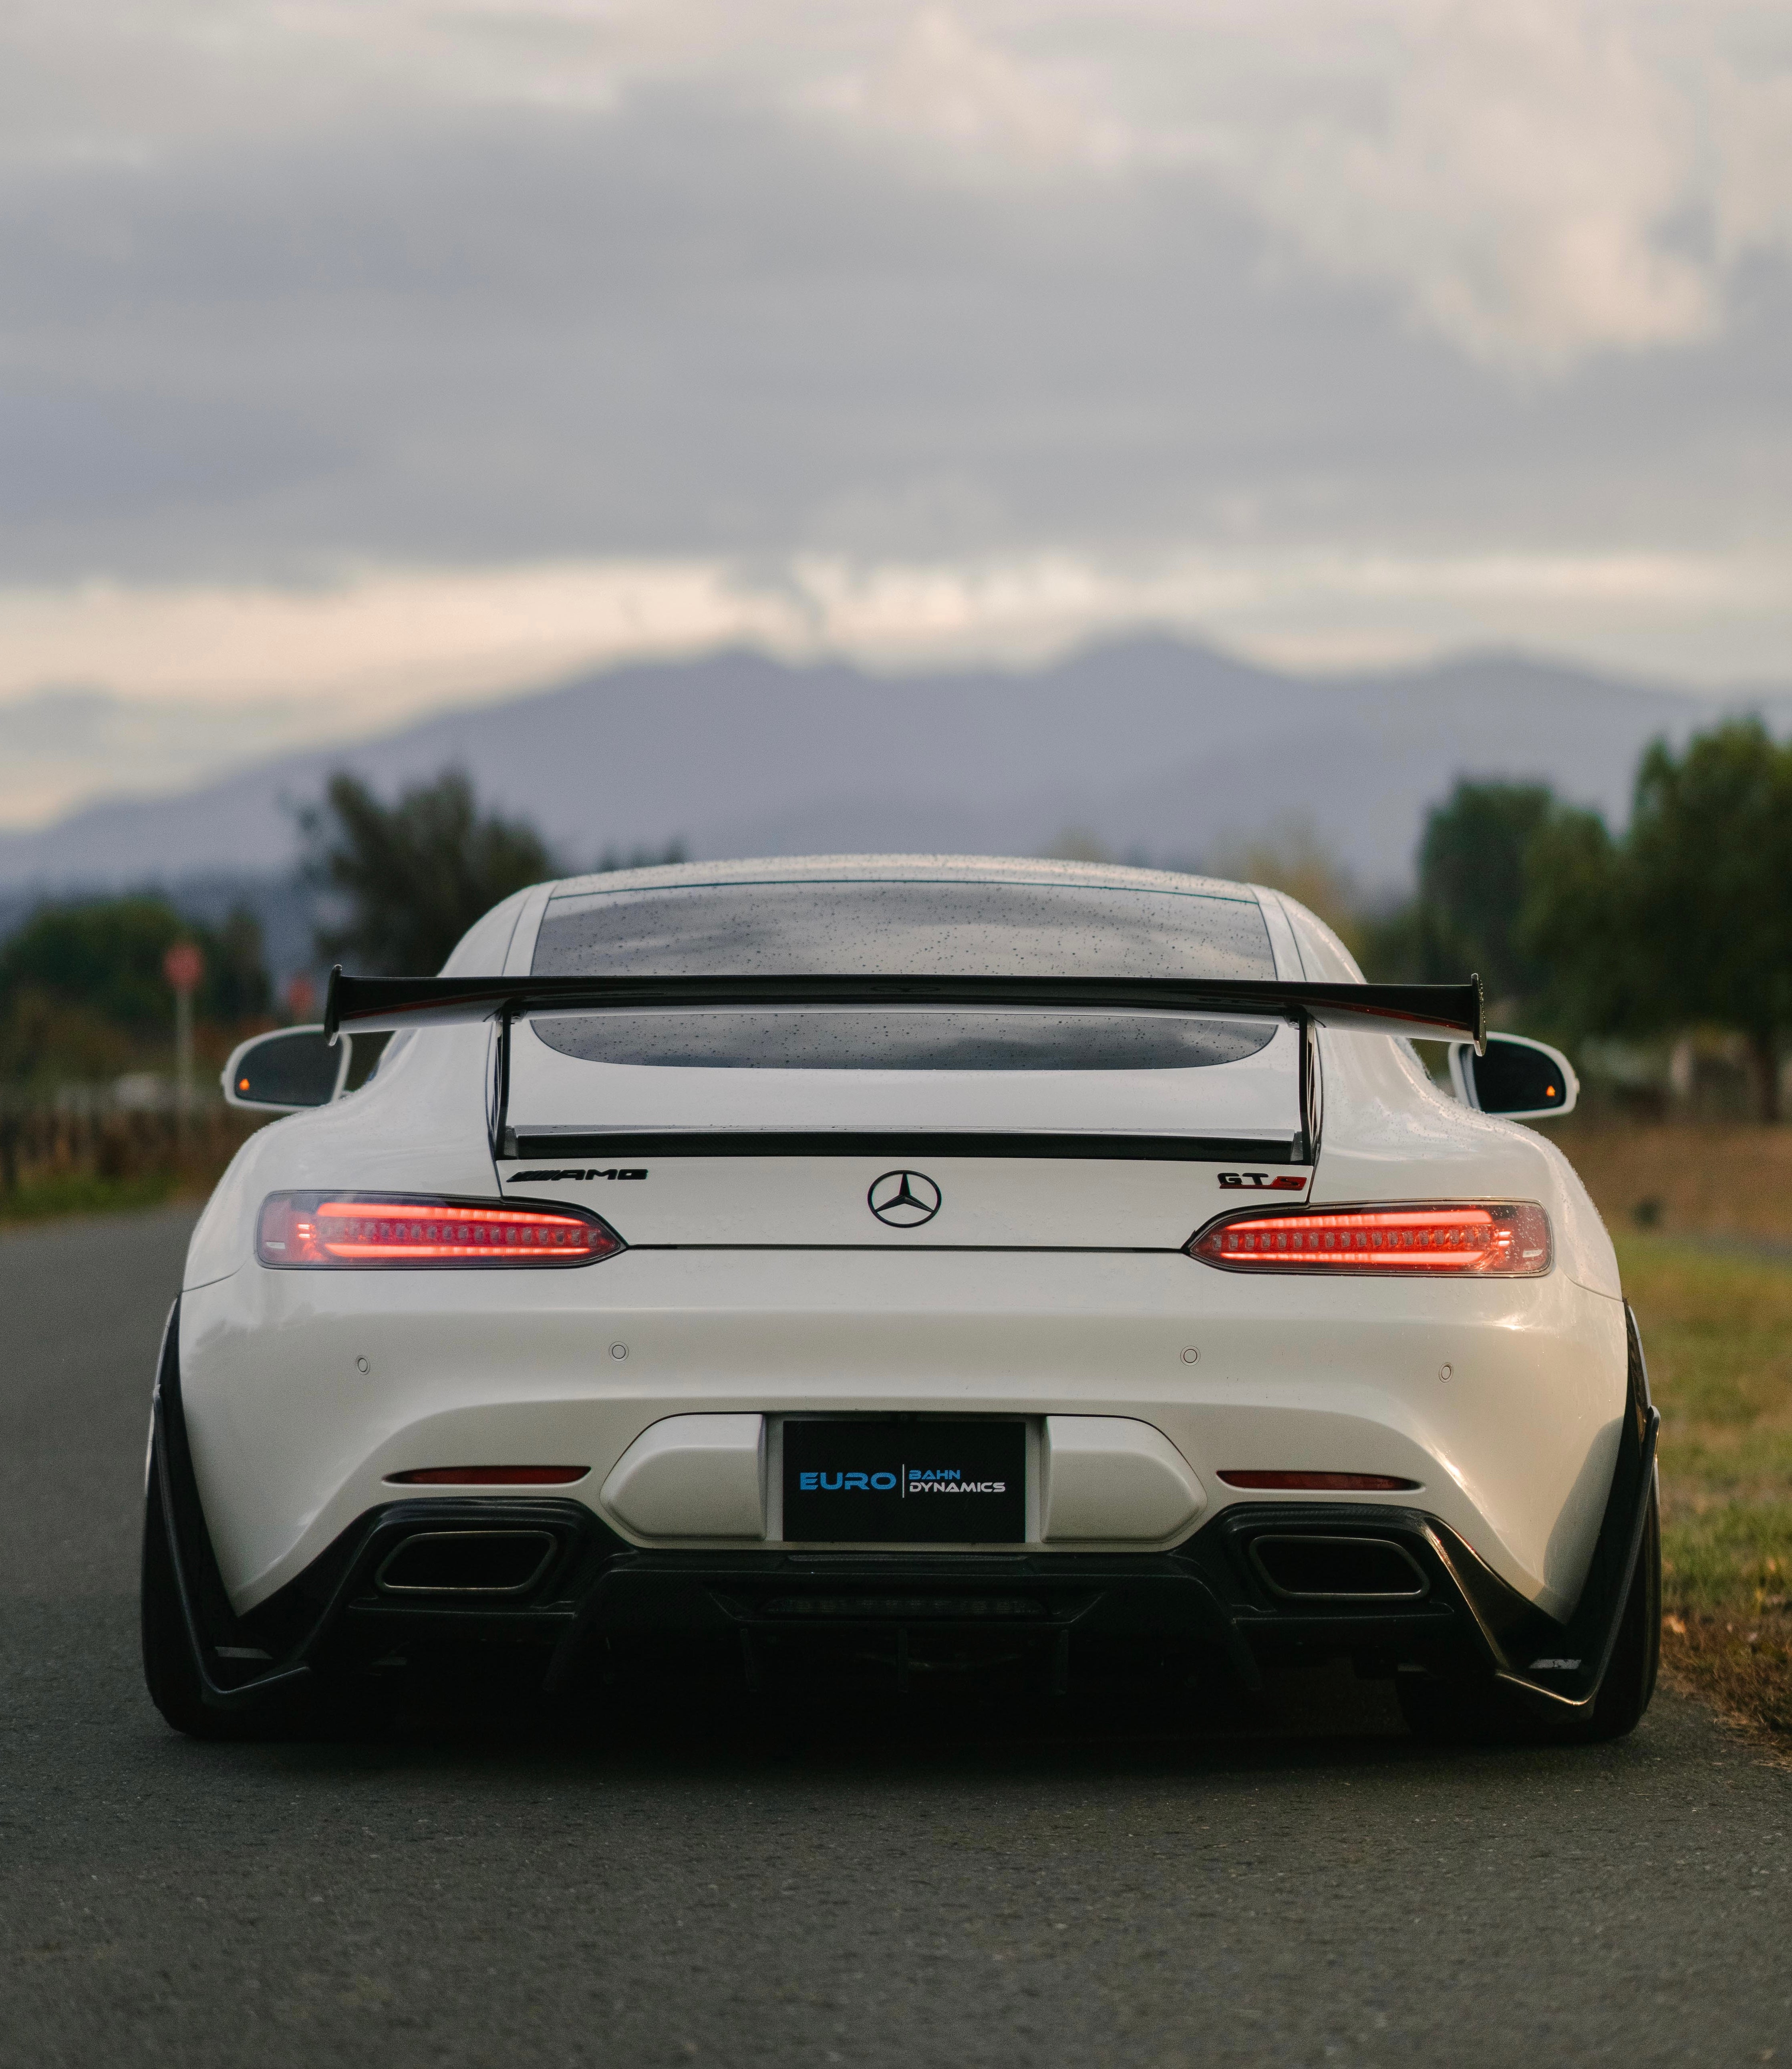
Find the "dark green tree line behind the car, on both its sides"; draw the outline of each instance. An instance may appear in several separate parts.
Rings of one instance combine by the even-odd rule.
[[[459,770],[383,803],[339,772],[300,813],[304,881],[323,919],[323,962],[435,970],[501,898],[575,865],[526,819],[482,811]],[[679,846],[606,852],[598,869],[681,861]],[[1341,925],[1378,979],[1480,970],[1500,1024],[1569,1047],[1686,1028],[1742,1039],[1755,1105],[1780,1117],[1792,1032],[1792,745],[1732,720],[1682,749],[1651,745],[1631,817],[1546,784],[1461,780],[1426,817],[1417,888],[1362,912],[1316,844],[1242,854],[1225,873],[1279,881]],[[0,946],[0,1080],[97,1078],[166,1039],[161,958],[176,939],[205,956],[201,1022],[236,1032],[271,1014],[250,912],[219,929],[166,898],[52,904]]]

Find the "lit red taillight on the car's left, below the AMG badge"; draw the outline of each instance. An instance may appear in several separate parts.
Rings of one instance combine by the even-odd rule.
[[[275,1192],[261,1204],[263,1264],[329,1268],[594,1264],[623,1248],[596,1215],[385,1192]]]

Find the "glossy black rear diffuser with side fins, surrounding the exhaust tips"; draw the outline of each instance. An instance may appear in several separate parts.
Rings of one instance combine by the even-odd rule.
[[[836,1678],[902,1690],[942,1666],[999,1659],[1064,1695],[1107,1684],[1130,1651],[1184,1684],[1225,1676],[1254,1692],[1266,1668],[1345,1655],[1368,1672],[1494,1674],[1542,1707],[1583,1709],[1606,1672],[1653,1486],[1657,1415],[1635,1320],[1629,1345],[1618,1457],[1566,1622],[1500,1581],[1438,1517],[1391,1504],[1235,1502],[1153,1554],[873,1554],[644,1550],[581,1502],[509,1496],[370,1508],[236,1614],[192,1473],[174,1318],[153,1465],[201,1684],[219,1707],[315,1672],[503,1645],[524,1649],[546,1688],[673,1661],[743,1688],[832,1666]],[[1364,1595],[1364,1581],[1382,1593]]]

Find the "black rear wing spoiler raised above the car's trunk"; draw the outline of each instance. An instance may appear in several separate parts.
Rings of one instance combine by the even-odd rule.
[[[1465,985],[1320,985],[1221,977],[346,977],[329,972],[325,1034],[538,1012],[693,1006],[1016,1006],[1227,1012],[1486,1047],[1480,977]]]

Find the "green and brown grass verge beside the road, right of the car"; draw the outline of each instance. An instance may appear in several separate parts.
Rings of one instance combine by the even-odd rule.
[[[1792,1264],[1618,1235],[1662,1409],[1664,1661],[1792,1744]]]

